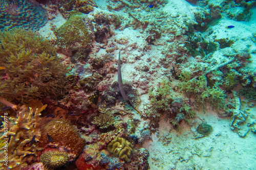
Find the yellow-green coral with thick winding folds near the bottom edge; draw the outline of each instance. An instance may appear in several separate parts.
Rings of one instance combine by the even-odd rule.
[[[134,148],[131,142],[122,137],[116,137],[108,144],[108,151],[126,162],[131,161],[134,154]]]

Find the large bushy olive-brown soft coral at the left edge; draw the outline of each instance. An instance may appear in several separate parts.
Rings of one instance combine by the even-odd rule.
[[[54,99],[67,91],[66,66],[49,41],[24,29],[0,33],[0,91],[9,101],[28,102],[48,95]]]

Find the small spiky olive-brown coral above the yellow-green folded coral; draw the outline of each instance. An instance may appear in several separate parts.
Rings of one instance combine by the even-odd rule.
[[[94,125],[99,126],[100,129],[103,129],[103,128],[108,128],[111,125],[114,125],[115,119],[112,113],[106,112],[99,116],[96,116],[92,123]]]

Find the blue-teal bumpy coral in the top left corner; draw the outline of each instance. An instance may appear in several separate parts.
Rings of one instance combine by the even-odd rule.
[[[10,30],[21,27],[26,30],[38,30],[47,22],[47,12],[38,3],[32,1],[15,0],[1,1],[0,29]]]

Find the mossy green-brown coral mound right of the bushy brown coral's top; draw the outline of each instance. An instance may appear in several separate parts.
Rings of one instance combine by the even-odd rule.
[[[57,44],[61,47],[87,46],[91,44],[91,34],[82,15],[72,15],[57,31]]]

